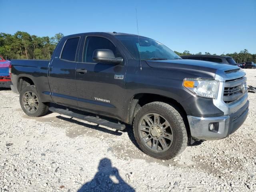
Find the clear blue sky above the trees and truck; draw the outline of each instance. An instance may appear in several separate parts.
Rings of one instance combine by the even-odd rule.
[[[139,32],[172,50],[256,53],[256,0],[0,0],[0,32]]]

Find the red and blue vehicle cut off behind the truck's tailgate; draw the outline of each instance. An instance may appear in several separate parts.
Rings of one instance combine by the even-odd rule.
[[[0,56],[0,87],[10,88],[12,81],[9,75],[10,61],[6,61]]]

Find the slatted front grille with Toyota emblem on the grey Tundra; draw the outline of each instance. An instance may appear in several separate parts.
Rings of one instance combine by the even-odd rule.
[[[223,101],[230,104],[240,99],[246,92],[246,77],[227,80],[224,87]]]

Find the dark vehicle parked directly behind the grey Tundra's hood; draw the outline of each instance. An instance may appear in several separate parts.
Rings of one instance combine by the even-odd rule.
[[[219,55],[184,55],[181,56],[182,59],[192,59],[201,61],[210,61],[214,63],[222,63],[229,65],[237,65],[232,57],[229,56],[219,56]]]

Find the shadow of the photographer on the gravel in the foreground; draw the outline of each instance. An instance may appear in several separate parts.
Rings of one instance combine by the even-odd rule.
[[[115,177],[115,182],[110,177]],[[128,185],[119,175],[118,169],[112,167],[111,161],[108,158],[100,160],[98,172],[94,178],[85,183],[78,192],[88,191],[127,191],[135,192],[134,188]]]

